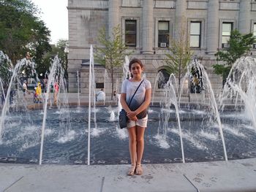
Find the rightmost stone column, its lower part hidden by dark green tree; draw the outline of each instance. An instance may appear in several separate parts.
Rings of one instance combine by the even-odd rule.
[[[239,31],[241,34],[250,32],[250,3],[251,0],[241,0],[239,10]]]

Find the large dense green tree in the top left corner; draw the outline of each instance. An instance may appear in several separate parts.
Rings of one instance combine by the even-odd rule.
[[[0,50],[15,64],[30,52],[39,63],[50,50],[50,31],[39,20],[39,9],[30,0],[0,1]]]

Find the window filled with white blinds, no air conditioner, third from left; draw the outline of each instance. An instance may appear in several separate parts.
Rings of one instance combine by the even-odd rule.
[[[201,22],[190,23],[190,47],[200,47]]]

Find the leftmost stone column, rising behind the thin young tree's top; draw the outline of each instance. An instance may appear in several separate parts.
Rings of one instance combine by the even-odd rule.
[[[112,30],[119,24],[119,1],[108,1],[108,35],[112,37]],[[121,26],[120,26],[121,27]]]

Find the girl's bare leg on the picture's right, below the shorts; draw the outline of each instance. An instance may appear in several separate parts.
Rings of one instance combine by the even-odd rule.
[[[136,126],[137,135],[137,164],[141,164],[141,159],[144,151],[144,132],[145,127]]]

